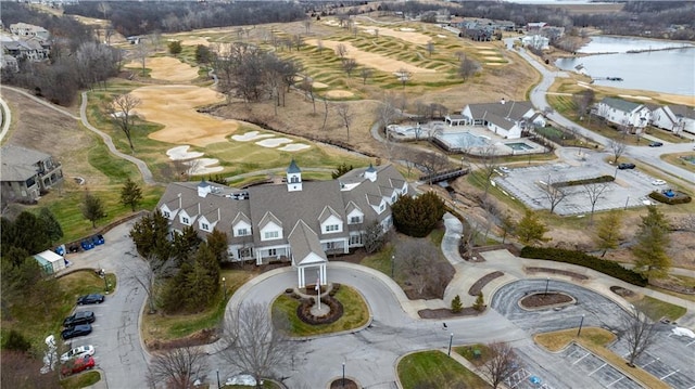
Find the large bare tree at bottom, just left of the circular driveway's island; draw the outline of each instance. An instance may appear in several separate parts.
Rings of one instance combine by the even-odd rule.
[[[287,317],[280,312],[270,314],[269,307],[245,302],[225,316],[222,334],[222,356],[231,366],[248,372],[256,379],[271,377],[288,365],[295,350],[281,326]]]

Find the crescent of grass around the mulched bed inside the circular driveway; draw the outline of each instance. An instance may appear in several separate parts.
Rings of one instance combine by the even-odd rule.
[[[312,336],[331,334],[342,330],[358,328],[369,321],[367,303],[355,289],[340,285],[336,296],[343,304],[343,315],[331,324],[311,325],[302,322],[296,315],[300,301],[287,295],[280,295],[273,302],[273,311],[276,309],[287,315],[289,320],[290,336]]]

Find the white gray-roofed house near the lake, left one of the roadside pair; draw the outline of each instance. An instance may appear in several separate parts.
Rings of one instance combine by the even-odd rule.
[[[652,111],[644,104],[605,98],[596,103],[595,114],[630,133],[642,133],[652,120]]]

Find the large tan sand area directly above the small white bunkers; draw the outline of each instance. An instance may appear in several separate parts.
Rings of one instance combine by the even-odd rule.
[[[149,135],[156,141],[203,147],[225,142],[239,128],[236,120],[222,120],[195,112],[198,106],[225,101],[223,94],[207,88],[149,86],[138,88],[130,94],[142,101],[136,109],[138,116],[164,125],[162,130]]]

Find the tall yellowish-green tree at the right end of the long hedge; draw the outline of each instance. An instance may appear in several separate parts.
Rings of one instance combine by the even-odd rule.
[[[632,247],[632,254],[636,257],[635,270],[647,278],[668,274],[671,267],[671,258],[666,252],[670,243],[669,229],[664,213],[655,206],[647,207],[647,215],[642,217],[637,231],[637,242]]]

